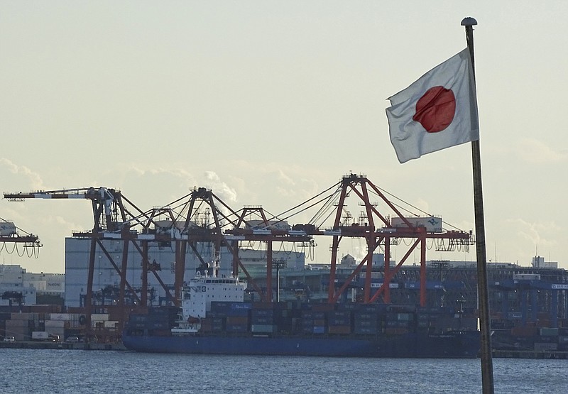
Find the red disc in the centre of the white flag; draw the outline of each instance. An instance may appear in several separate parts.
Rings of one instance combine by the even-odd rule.
[[[413,121],[420,122],[428,133],[437,133],[452,123],[455,114],[454,92],[443,86],[435,86],[417,101]]]

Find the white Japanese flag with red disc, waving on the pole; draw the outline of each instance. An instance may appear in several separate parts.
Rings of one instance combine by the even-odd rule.
[[[474,72],[468,48],[388,100],[388,128],[400,163],[479,140]]]

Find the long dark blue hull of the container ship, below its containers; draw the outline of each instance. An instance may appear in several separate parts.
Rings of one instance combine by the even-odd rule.
[[[398,336],[123,336],[126,349],[185,354],[342,356],[388,358],[475,358],[479,332]]]

